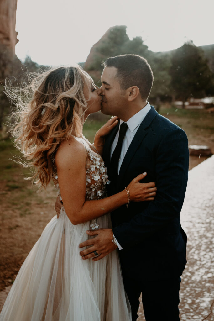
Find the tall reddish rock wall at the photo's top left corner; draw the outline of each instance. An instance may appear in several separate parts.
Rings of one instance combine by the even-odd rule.
[[[0,44],[6,46],[15,55],[18,32],[16,25],[17,0],[0,1]]]

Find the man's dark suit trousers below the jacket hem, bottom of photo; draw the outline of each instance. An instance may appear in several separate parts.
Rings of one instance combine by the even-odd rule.
[[[179,321],[179,290],[181,278],[165,280],[134,280],[123,275],[124,287],[132,308],[132,321],[138,318],[142,293],[146,321]]]

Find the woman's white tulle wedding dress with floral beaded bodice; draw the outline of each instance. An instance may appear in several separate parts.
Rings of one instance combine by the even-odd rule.
[[[87,153],[86,198],[105,197],[108,183],[100,155]],[[55,168],[56,170],[56,168]],[[58,188],[57,173],[54,182]],[[117,251],[93,262],[82,260],[79,244],[90,225],[110,228],[110,214],[73,225],[62,207],[34,245],[13,283],[0,321],[130,321]]]

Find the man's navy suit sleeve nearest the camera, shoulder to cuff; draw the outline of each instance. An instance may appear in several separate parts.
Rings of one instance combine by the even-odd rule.
[[[131,221],[118,225],[113,233],[125,247],[143,242],[180,217],[188,178],[188,140],[182,129],[167,133],[156,154],[157,195],[154,201]]]

